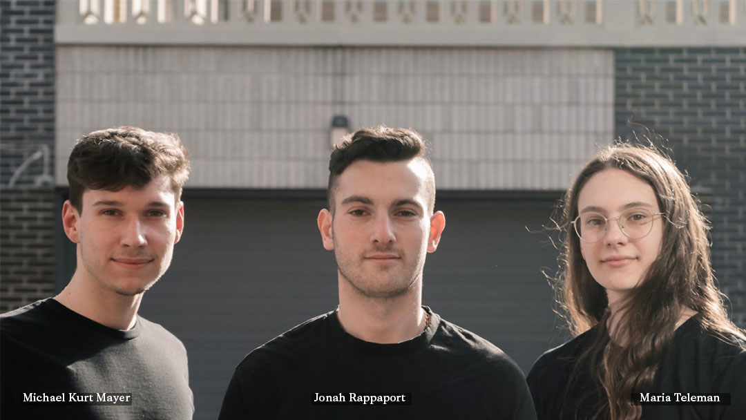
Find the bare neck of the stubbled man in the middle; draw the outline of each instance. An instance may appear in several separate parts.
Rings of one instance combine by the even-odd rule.
[[[419,336],[427,323],[422,309],[422,283],[396,298],[369,298],[361,295],[339,275],[339,310],[342,328],[367,342],[392,344]]]

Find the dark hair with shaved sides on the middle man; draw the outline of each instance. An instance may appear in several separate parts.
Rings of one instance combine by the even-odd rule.
[[[336,180],[342,172],[356,160],[370,160],[372,162],[401,162],[404,160],[421,159],[430,171],[428,182],[430,189],[430,211],[435,204],[435,181],[433,165],[425,156],[427,146],[422,137],[414,130],[407,128],[389,128],[377,125],[372,128],[360,128],[345,137],[334,146],[329,159],[329,184],[327,196],[329,210],[334,213],[334,188]]]

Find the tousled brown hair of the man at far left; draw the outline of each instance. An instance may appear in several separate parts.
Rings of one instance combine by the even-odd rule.
[[[93,131],[75,143],[67,161],[70,203],[81,212],[86,189],[145,187],[166,175],[176,201],[189,178],[189,154],[176,134],[116,127]]]

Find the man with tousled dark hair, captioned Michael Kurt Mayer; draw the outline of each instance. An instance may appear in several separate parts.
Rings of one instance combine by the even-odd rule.
[[[75,144],[63,228],[77,266],[54,298],[0,316],[2,419],[191,419],[184,345],[137,316],[184,229],[186,148],[120,127]]]

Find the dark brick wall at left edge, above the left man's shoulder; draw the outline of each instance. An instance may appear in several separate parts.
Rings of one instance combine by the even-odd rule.
[[[0,311],[54,284],[54,0],[0,0]]]

